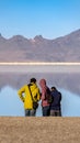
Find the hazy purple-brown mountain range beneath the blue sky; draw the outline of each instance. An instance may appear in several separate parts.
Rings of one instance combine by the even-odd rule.
[[[0,35],[0,62],[80,62],[80,30],[56,40]]]

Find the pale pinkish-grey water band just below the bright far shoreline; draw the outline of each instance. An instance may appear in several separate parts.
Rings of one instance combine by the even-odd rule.
[[[80,73],[80,65],[0,65],[0,73]]]

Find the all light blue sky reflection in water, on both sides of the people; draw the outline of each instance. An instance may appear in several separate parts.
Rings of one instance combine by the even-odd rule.
[[[80,97],[68,90],[59,89],[62,94],[62,117],[80,117]],[[23,103],[19,99],[18,90],[5,86],[0,91],[0,116],[24,117]],[[36,117],[42,117],[41,102]]]

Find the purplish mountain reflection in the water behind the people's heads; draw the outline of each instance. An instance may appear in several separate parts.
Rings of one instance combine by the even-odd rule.
[[[19,89],[27,84],[31,77],[35,77],[37,82],[44,77],[50,86],[80,95],[80,74],[0,74],[0,88],[9,85]]]

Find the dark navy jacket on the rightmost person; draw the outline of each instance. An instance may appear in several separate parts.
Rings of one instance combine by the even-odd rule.
[[[52,96],[54,101],[50,105],[50,110],[60,110],[61,94],[58,90],[53,90]]]

